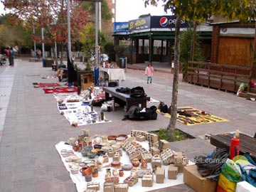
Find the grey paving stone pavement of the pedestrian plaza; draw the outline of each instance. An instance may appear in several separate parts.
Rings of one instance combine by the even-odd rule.
[[[128,65],[124,87],[142,86],[146,94],[155,100],[171,104],[172,79],[169,66],[154,66],[154,80],[146,84],[145,64]],[[130,69],[134,68],[134,69]],[[136,70],[141,68],[142,70]],[[124,110],[105,112],[111,123],[71,127],[60,115],[56,100],[34,88],[33,82],[58,82],[42,79],[41,75],[54,75],[51,68],[42,63],[28,62],[28,58],[15,60],[14,67],[0,66],[0,191],[76,191],[68,171],[60,161],[55,144],[80,134],[81,128],[89,128],[91,134],[129,134],[132,129],[146,131],[165,128],[169,118],[158,114],[157,120],[122,121]],[[180,77],[181,79],[181,77]],[[187,126],[177,122],[177,128],[195,139],[170,143],[171,149],[184,151],[188,158],[206,155],[214,146],[202,139],[203,135],[234,132],[255,134],[256,102],[223,92],[179,82],[178,107],[194,107],[228,119],[228,122]],[[149,103],[158,105],[157,103]],[[95,110],[100,111],[99,107]],[[193,191],[185,184],[157,191]]]

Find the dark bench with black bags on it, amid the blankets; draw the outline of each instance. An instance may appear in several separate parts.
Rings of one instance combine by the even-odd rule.
[[[129,94],[124,94],[122,92],[117,92],[117,87],[103,87],[105,91],[105,99],[110,100],[110,95],[114,97],[114,102],[123,104],[126,106],[126,112],[129,110],[129,107],[132,105],[142,105],[142,108],[146,108],[146,102],[150,101],[150,97],[130,97]]]

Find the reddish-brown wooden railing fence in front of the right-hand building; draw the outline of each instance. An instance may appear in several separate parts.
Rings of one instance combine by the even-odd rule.
[[[249,85],[250,91],[251,77],[252,68],[189,61],[183,81],[218,90],[237,92],[242,82]]]

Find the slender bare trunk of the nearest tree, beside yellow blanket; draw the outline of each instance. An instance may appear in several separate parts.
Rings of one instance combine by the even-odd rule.
[[[178,16],[175,26],[175,43],[174,43],[174,82],[173,92],[171,98],[171,119],[167,127],[168,137],[174,139],[174,130],[176,129],[177,122],[177,101],[178,101],[178,73],[180,68],[180,28],[181,28],[181,16]]]

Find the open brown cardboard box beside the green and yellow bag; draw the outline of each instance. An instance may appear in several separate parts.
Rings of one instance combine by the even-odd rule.
[[[217,181],[202,177],[196,165],[184,167],[183,181],[197,192],[215,192],[217,187]]]

